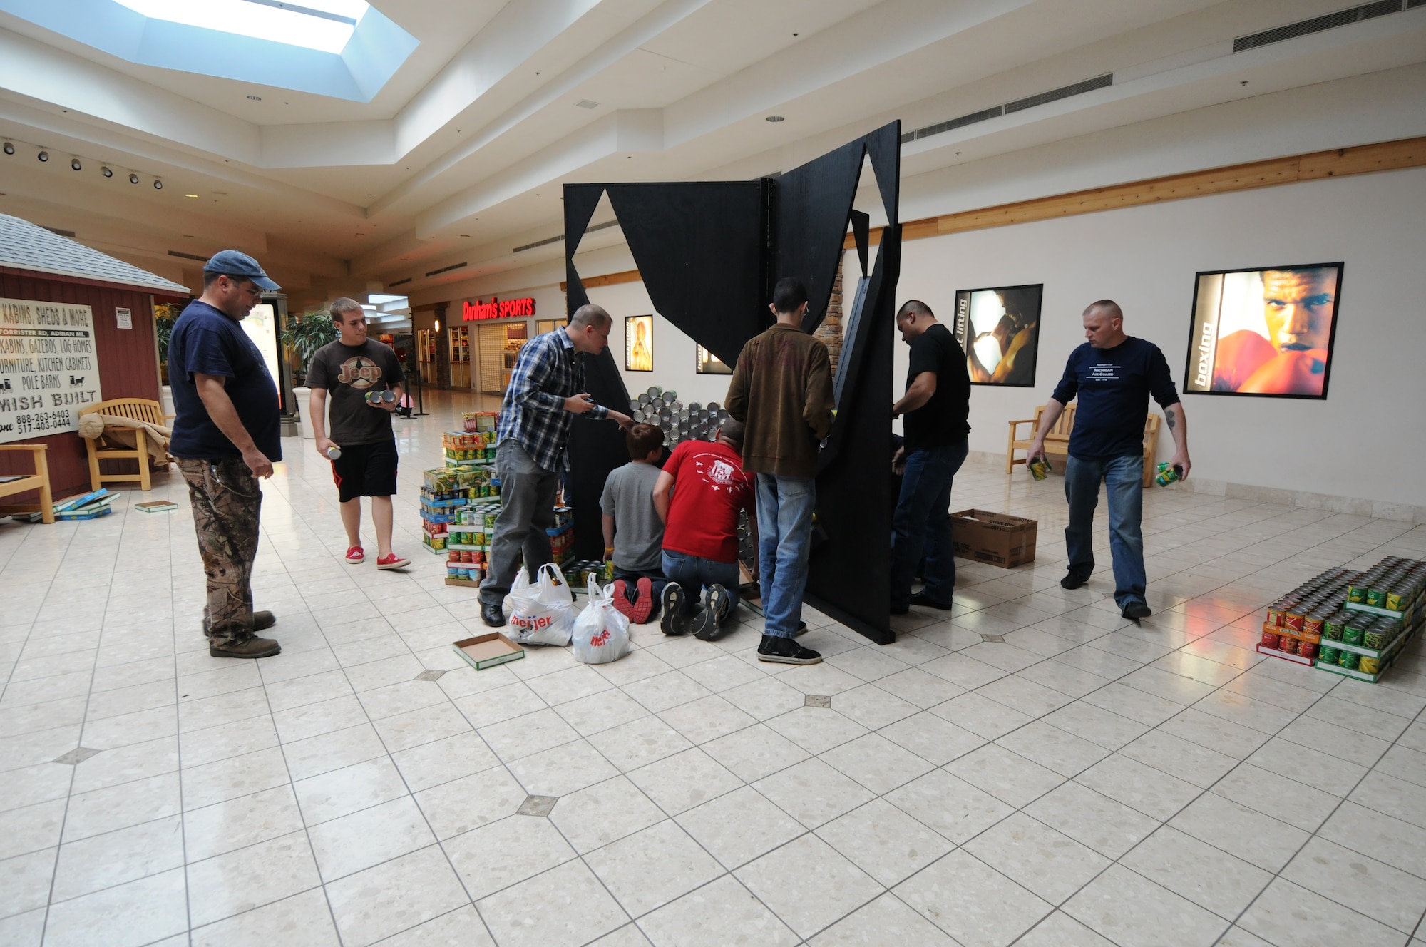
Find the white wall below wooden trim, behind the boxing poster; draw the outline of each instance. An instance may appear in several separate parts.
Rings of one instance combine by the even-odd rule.
[[[897,301],[943,319],[957,290],[1044,282],[1035,387],[971,394],[971,449],[1005,449],[1112,298],[1182,389],[1194,274],[1342,260],[1326,401],[1184,396],[1195,476],[1426,506],[1426,168],[1365,174],[950,234],[903,247]],[[907,349],[897,342],[896,394]],[[1156,409],[1156,406],[1155,406]],[[1172,442],[1164,431],[1159,459]]]

